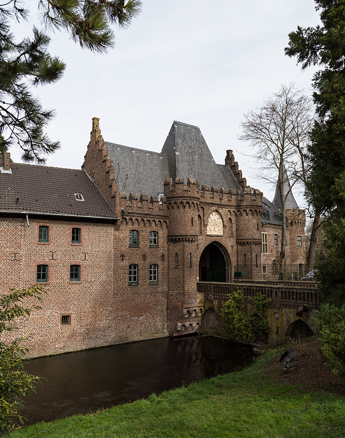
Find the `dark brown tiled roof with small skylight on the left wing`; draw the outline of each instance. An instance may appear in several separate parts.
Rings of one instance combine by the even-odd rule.
[[[84,170],[19,163],[11,170],[0,173],[0,213],[118,219]]]

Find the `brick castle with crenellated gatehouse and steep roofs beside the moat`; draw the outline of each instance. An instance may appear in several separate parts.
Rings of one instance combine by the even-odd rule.
[[[1,292],[48,292],[15,336],[31,334],[39,356],[198,331],[198,282],[278,262],[278,198],[247,186],[231,150],[216,164],[200,129],[180,122],[156,153],[105,142],[93,118],[82,170],[6,152]],[[305,212],[291,192],[287,207],[286,261],[302,264]]]

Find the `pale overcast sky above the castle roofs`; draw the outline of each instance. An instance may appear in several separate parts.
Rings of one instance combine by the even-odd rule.
[[[115,29],[107,55],[53,34],[50,52],[67,64],[65,74],[34,90],[56,110],[48,134],[61,149],[47,165],[80,169],[92,117],[106,141],[157,152],[177,120],[200,127],[217,163],[233,149],[247,183],[272,200],[274,188],[254,178],[250,150],[237,140],[240,123],[283,83],[311,94],[314,70],[301,72],[284,47],[297,25],[318,22],[312,0],[143,0],[130,27]],[[23,24],[19,33],[28,33]],[[11,158],[19,162],[20,152],[12,149]]]

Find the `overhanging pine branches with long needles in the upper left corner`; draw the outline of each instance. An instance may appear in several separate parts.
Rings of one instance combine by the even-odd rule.
[[[31,89],[61,78],[65,64],[48,52],[48,29],[65,30],[82,48],[105,53],[114,42],[111,24],[129,25],[140,11],[140,0],[41,0],[39,14],[44,30],[17,42],[10,20],[27,20],[29,11],[20,0],[0,5],[0,147],[18,146],[26,162],[44,163],[58,142],[44,132],[54,117],[45,110]]]

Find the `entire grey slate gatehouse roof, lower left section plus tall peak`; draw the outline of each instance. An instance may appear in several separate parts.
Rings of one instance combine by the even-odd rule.
[[[216,164],[200,128],[174,122],[161,153],[105,142],[120,191],[160,195],[164,180],[195,178],[202,184],[240,189],[229,167]]]

